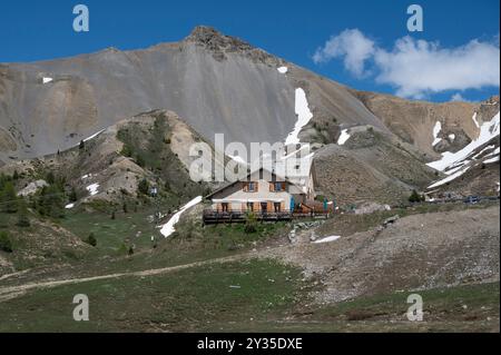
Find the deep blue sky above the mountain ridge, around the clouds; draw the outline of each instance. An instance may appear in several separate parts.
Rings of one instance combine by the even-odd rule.
[[[72,8],[77,3],[89,7],[90,31],[87,33],[72,30]],[[406,9],[412,3],[419,3],[424,10],[423,32],[407,32]],[[432,90],[421,90],[415,86],[402,88],[402,82],[397,81],[409,76],[410,70],[399,71],[394,59],[409,58],[392,56],[395,53],[395,41],[405,36],[411,36],[415,46],[416,40],[435,43],[435,51],[431,50],[429,53],[426,50],[429,60],[424,67],[428,66],[429,69],[415,68],[428,70],[428,76],[434,78],[441,75],[432,70],[436,67],[434,60],[440,60],[436,58],[445,55],[451,62],[455,62],[458,56],[469,55],[471,48],[464,49],[464,46],[477,40],[482,43],[480,48],[472,49],[478,58],[489,58],[494,46],[494,51],[498,47],[498,58],[493,59],[493,63],[499,63],[499,0],[2,1],[0,11],[0,62],[68,57],[107,47],[145,48],[163,41],[180,40],[193,27],[208,24],[361,90],[400,95],[407,92],[404,96],[436,101],[450,100],[452,96],[481,100],[499,92],[499,80],[498,83],[492,83],[492,73],[490,78],[488,76],[489,70],[498,70],[499,77],[499,65],[498,69],[491,69],[492,63],[484,62],[483,59],[485,68],[481,68],[481,76],[485,78],[473,80],[473,83],[471,78],[464,78],[452,89],[442,83],[438,83]],[[364,39],[373,43],[374,57],[364,62],[363,76],[356,76],[346,69],[343,55],[317,63],[312,59],[331,37],[336,37],[346,29],[356,29]],[[351,49],[344,48],[341,51],[343,50]],[[384,56],[377,57],[375,53],[392,57],[390,62],[386,60],[381,63],[376,58]],[[461,62],[461,58],[459,61]],[[470,70],[468,60],[464,66],[464,70]],[[482,67],[481,63],[479,66]],[[389,76],[393,78],[382,79],[382,71],[390,71]],[[446,75],[443,77],[443,80],[449,79]]]

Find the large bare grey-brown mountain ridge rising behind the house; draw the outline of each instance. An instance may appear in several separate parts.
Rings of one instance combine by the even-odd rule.
[[[318,155],[324,181],[338,184],[321,188],[346,203],[365,199],[372,187],[377,200],[393,201],[425,189],[443,178],[425,164],[460,151],[499,112],[499,98],[430,103],[355,91],[197,27],[179,42],[143,50],[0,65],[0,161],[63,151],[154,109],[175,111],[207,141],[215,134],[226,144],[285,141],[297,128],[299,89],[313,118],[298,138],[327,146]]]

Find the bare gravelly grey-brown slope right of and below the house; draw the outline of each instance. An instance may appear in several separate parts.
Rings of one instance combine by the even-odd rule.
[[[321,280],[320,303],[499,280],[499,206],[413,215],[386,228],[261,253]]]

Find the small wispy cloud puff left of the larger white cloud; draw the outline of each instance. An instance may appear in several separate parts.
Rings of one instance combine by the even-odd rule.
[[[323,48],[313,56],[315,63],[327,62],[334,58],[344,58],[344,66],[357,77],[364,76],[364,62],[374,55],[374,42],[360,30],[348,29],[333,36]]]

